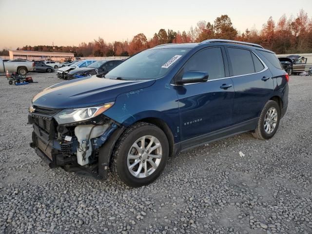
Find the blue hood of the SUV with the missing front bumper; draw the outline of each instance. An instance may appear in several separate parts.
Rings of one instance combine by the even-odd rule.
[[[115,101],[119,94],[151,86],[155,80],[79,78],[55,84],[33,98],[33,105],[47,108],[79,108]]]

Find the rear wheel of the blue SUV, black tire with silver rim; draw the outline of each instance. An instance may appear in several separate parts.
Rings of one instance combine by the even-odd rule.
[[[274,112],[272,112],[272,110],[274,110]],[[270,113],[272,114],[270,115]],[[273,117],[275,116],[275,114],[276,114],[276,118]],[[252,132],[252,135],[255,138],[262,139],[262,140],[270,139],[271,137],[275,135],[277,131],[280,118],[281,118],[281,110],[277,102],[273,100],[267,101],[267,103],[264,105],[261,111],[258,124],[257,124],[257,128],[254,130],[254,132]],[[269,119],[272,119],[272,120],[268,121]]]

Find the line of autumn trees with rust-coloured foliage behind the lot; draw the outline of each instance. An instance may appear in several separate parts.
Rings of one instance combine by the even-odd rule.
[[[139,33],[130,41],[106,42],[103,38],[82,42],[78,46],[25,45],[17,50],[44,52],[72,52],[78,57],[131,56],[142,50],[164,43],[200,42],[206,39],[231,39],[262,45],[276,54],[312,53],[312,18],[302,9],[296,17],[284,14],[275,22],[272,17],[258,31],[255,28],[239,33],[228,15],[217,17],[214,22],[199,21],[188,31],[175,32],[160,29],[151,39]],[[8,54],[8,51],[0,51]]]

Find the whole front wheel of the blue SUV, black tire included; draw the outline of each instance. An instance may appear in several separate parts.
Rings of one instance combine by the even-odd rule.
[[[145,137],[144,149],[141,147],[142,144],[140,143],[142,142],[142,137]],[[154,143],[148,148],[152,137],[154,137]],[[139,148],[134,147],[136,142],[138,142],[136,146]],[[152,150],[152,152],[148,151],[150,148],[156,146],[157,148]],[[139,151],[141,151],[141,153]],[[143,151],[146,153],[142,154]],[[129,159],[129,155],[136,159]],[[164,132],[154,124],[137,122],[126,129],[118,139],[112,155],[111,170],[113,174],[126,185],[130,187],[140,187],[152,183],[161,174],[167,164],[168,156],[169,143]],[[154,167],[152,167],[150,163],[151,160],[154,162]],[[136,163],[136,161],[138,161],[138,163]],[[129,169],[129,167],[133,165],[136,166]],[[145,173],[145,168],[147,168],[147,173]],[[136,173],[137,176],[134,175]]]

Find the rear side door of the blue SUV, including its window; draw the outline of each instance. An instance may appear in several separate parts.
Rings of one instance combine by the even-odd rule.
[[[234,83],[233,124],[252,124],[273,93],[270,70],[253,52],[241,47],[226,47]]]

